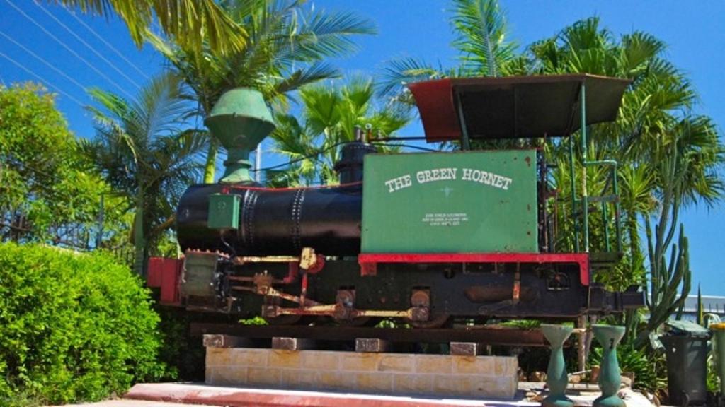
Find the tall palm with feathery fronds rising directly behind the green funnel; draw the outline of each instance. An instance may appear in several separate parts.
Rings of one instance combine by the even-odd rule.
[[[351,37],[374,33],[368,20],[349,12],[303,9],[302,1],[246,1],[223,4],[228,16],[249,36],[243,49],[216,54],[184,43],[151,37],[178,75],[194,91],[199,117],[205,117],[224,91],[248,87],[261,91],[278,108],[302,85],[335,77],[323,59],[355,49]],[[204,182],[214,182],[218,144],[210,143]]]

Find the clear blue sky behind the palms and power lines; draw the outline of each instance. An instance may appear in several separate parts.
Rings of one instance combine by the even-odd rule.
[[[323,9],[352,9],[376,22],[378,35],[359,38],[357,54],[333,61],[346,74],[363,72],[373,75],[384,67],[387,60],[398,56],[421,57],[444,66],[455,64],[455,52],[450,47],[449,1],[310,0],[308,3]],[[616,35],[632,30],[655,35],[668,44],[668,58],[689,74],[697,88],[700,95],[697,112],[713,117],[721,126],[722,133],[725,123],[722,96],[725,75],[721,72],[725,64],[724,1],[502,0],[502,6],[508,15],[510,38],[522,46],[554,35],[566,25],[592,15],[599,16],[602,25]],[[78,17],[93,32],[67,10],[46,4],[46,1],[38,6],[30,0],[0,0],[0,80],[6,84],[40,80],[26,70],[38,75],[51,91],[60,93],[57,105],[67,117],[70,128],[80,136],[90,137],[93,135],[91,119],[82,107],[90,100],[83,88],[98,86],[120,94],[133,94],[136,91],[133,83],[142,84],[146,77],[162,70],[164,60],[149,46],[138,50],[117,18]],[[30,19],[35,20],[37,25]],[[75,32],[102,58],[61,24]],[[113,67],[104,59],[112,62]],[[417,123],[403,131],[404,135],[422,133]],[[268,145],[265,144],[265,147],[268,148]],[[723,206],[688,208],[681,219],[690,237],[693,284],[696,286],[701,282],[703,293],[725,295],[725,284],[719,277],[720,251],[725,250]]]

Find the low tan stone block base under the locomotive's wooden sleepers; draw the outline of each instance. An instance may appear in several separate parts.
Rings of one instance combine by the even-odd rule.
[[[209,385],[355,393],[513,398],[513,356],[207,348]]]

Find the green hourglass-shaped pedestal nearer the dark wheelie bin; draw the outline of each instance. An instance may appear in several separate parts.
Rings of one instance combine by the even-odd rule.
[[[602,390],[594,407],[625,407],[624,400],[619,398],[617,392],[622,384],[619,362],[617,361],[617,345],[624,336],[624,327],[615,325],[594,325],[594,336],[604,348],[602,367],[599,373],[599,388]]]

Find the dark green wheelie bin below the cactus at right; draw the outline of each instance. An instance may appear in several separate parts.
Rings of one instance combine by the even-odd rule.
[[[667,387],[672,406],[708,401],[708,340],[710,332],[687,321],[668,322],[660,337],[667,355]]]

